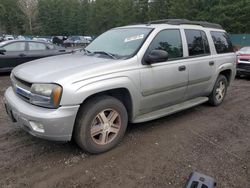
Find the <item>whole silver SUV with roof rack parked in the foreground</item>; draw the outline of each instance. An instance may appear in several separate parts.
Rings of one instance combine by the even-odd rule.
[[[30,134],[90,153],[123,138],[128,122],[201,103],[218,106],[236,73],[220,25],[161,20],[111,29],[82,51],[16,67],[5,107]]]

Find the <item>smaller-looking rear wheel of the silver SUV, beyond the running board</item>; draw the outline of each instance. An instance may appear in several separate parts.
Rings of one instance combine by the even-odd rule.
[[[225,99],[227,93],[228,81],[224,75],[219,75],[212,93],[209,95],[209,104],[219,106]]]

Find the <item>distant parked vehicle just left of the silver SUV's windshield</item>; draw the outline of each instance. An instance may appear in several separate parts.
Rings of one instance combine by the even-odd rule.
[[[87,46],[90,43],[88,39],[84,36],[69,36],[64,40],[63,45],[65,47],[75,47],[75,46]]]

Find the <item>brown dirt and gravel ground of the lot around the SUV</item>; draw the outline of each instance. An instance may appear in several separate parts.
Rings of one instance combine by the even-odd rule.
[[[201,105],[129,125],[123,142],[101,155],[74,143],[34,138],[12,124],[0,76],[0,187],[183,187],[196,170],[219,188],[250,187],[250,80],[233,83],[220,107]]]

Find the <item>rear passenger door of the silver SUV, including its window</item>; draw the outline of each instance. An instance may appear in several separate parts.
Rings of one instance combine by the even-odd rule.
[[[215,72],[215,62],[211,52],[207,34],[203,30],[185,29],[188,50],[188,89],[186,99],[206,95]]]

